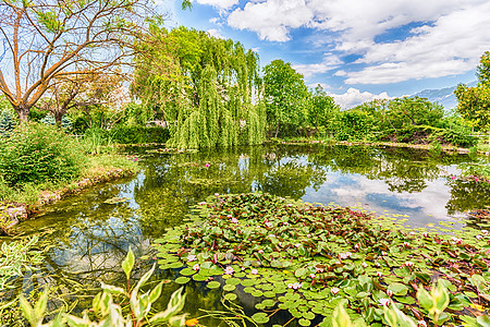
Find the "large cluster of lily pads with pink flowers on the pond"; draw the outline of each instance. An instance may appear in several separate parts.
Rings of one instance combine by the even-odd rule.
[[[478,326],[488,315],[486,230],[415,232],[348,207],[260,193],[216,194],[195,218],[156,241],[160,267],[180,269],[177,283],[221,288],[229,301],[252,294],[258,324],[284,311],[301,326],[330,326],[339,304],[358,323],[387,324],[383,306],[394,305],[425,324],[432,317],[416,293],[438,279],[450,293],[439,322]]]

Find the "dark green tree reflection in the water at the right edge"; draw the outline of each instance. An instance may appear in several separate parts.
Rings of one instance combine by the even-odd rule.
[[[445,205],[450,215],[475,209],[485,209],[490,206],[490,184],[467,180],[450,182],[451,198]]]

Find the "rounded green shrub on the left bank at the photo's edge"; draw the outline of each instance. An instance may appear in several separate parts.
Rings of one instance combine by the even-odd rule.
[[[85,159],[75,140],[45,124],[22,124],[0,138],[0,174],[9,186],[71,180]]]

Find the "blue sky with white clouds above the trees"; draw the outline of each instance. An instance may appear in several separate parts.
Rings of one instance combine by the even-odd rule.
[[[488,0],[160,0],[169,27],[232,38],[282,59],[343,108],[476,80],[490,50]]]

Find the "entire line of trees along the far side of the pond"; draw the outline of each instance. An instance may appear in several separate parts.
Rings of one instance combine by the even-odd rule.
[[[468,131],[490,129],[490,52],[481,57],[478,85],[457,87],[453,114],[407,97],[341,110],[291,63],[260,69],[258,55],[232,39],[169,31],[146,0],[5,0],[0,11],[0,90],[21,121],[49,112],[61,125],[69,116],[77,131],[156,122],[180,148],[260,144],[267,136],[469,145]],[[3,114],[0,125],[8,124]]]

